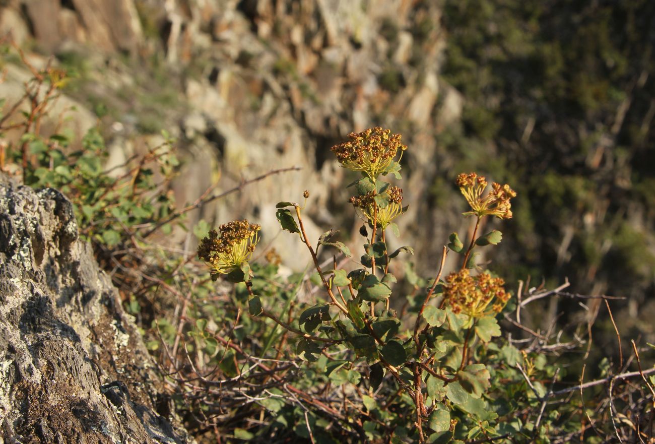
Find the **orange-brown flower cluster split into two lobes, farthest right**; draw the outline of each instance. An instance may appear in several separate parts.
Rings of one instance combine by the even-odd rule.
[[[491,192],[483,196],[487,188],[487,179],[484,176],[477,176],[476,173],[462,173],[457,176],[457,186],[471,206],[472,211],[464,215],[476,215],[482,217],[493,215],[499,219],[510,219],[512,217],[512,204],[510,199],[516,197],[516,192],[510,185],[491,184]]]

